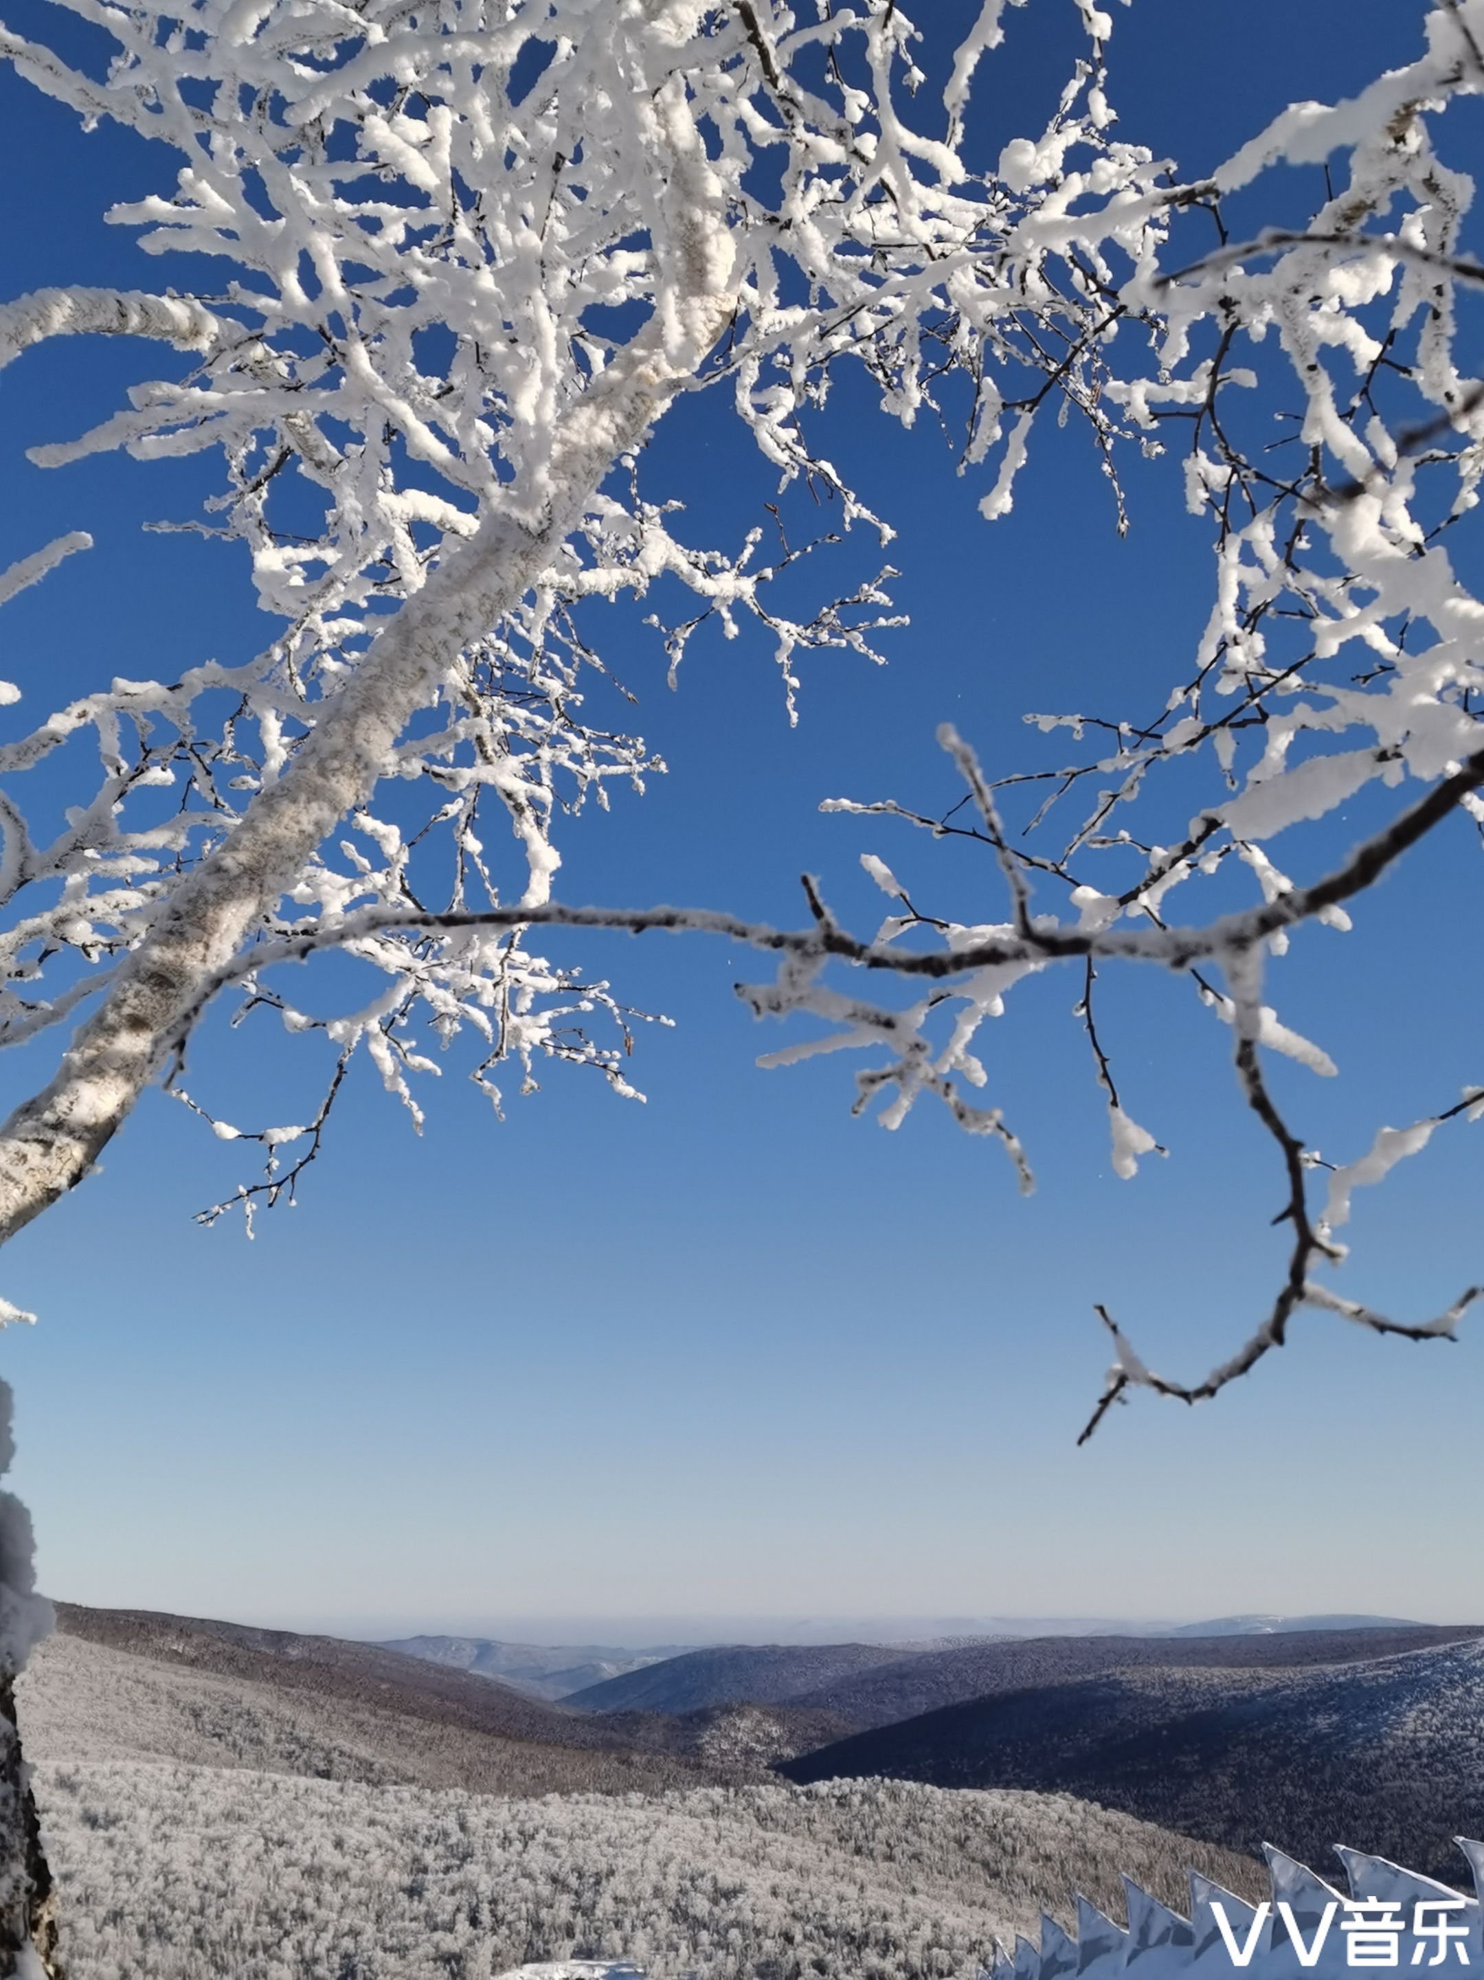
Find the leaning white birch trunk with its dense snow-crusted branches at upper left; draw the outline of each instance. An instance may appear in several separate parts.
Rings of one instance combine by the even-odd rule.
[[[202,986],[252,944],[430,893],[454,911],[549,899],[559,814],[662,768],[586,713],[594,602],[662,580],[672,602],[689,594],[666,632],[672,679],[703,620],[757,624],[791,713],[804,651],[874,655],[896,624],[890,570],[789,616],[773,584],[804,546],[781,531],[693,546],[678,505],[640,489],[636,453],[678,394],[729,394],[785,487],[808,481],[842,529],[888,539],[810,422],[842,362],[903,422],[937,412],[959,372],[965,465],[999,449],[999,513],[1042,402],[1076,406],[1106,453],[1131,428],[1104,390],[1110,299],[1153,267],[1165,214],[1149,154],[1112,135],[1096,10],[1048,121],[985,174],[965,113],[997,4],[939,99],[886,0],[824,16],[771,0],[63,4],[111,38],[107,69],[8,30],[0,51],[83,119],[176,152],[172,184],[109,218],[149,253],[210,255],[214,289],[0,307],[0,362],[67,335],[182,354],[32,459],[218,449],[212,513],[178,527],[248,548],[275,632],[248,665],[115,681],[4,746],[0,1043],[105,998],[83,1034],[97,1049],[10,1123],[4,1230],[77,1180]],[[79,546],[28,556],[0,590]],[[67,744],[79,802],[61,834],[34,832],[10,792]],[[430,1065],[426,1026],[444,1043],[472,1028],[487,1085],[501,1061],[529,1083],[557,1055],[628,1091],[622,1026],[614,1045],[583,1026],[596,1006],[618,1016],[606,986],[531,954],[519,927],[388,927],[353,952],[386,988],[325,1030],[394,1091]],[[252,974],[248,1000],[319,1022]]]

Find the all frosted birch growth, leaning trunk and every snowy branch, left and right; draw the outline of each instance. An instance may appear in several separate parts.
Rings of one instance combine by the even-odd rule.
[[[1320,1168],[1264,1063],[1331,1069],[1268,1002],[1284,948],[1341,933],[1434,828],[1484,822],[1484,606],[1452,558],[1484,471],[1484,384],[1454,295],[1484,271],[1460,244],[1472,186],[1432,148],[1448,105],[1484,83],[1484,0],[1444,0],[1411,67],[1288,111],[1201,180],[1119,129],[1112,20],[1094,0],[1066,10],[1060,97],[993,147],[971,89],[1010,26],[1003,0],[937,51],[931,10],[913,24],[896,0],[61,4],[109,40],[107,65],[2,28],[0,51],[83,123],[159,143],[160,190],[109,218],[147,253],[210,255],[212,287],[22,295],[0,305],[0,362],[24,366],[55,337],[164,346],[159,380],[32,459],[218,455],[200,527],[248,552],[265,634],[244,665],[202,657],[180,679],[115,679],[36,723],[8,717],[0,1045],[50,1032],[59,1049],[0,1127],[0,1238],[87,1176],[153,1081],[218,1135],[260,1140],[265,1168],[234,1200],[248,1218],[317,1156],[361,1053],[414,1111],[428,1040],[458,1034],[495,1101],[501,1067],[529,1083],[543,1059],[626,1093],[618,992],[539,954],[539,931],[711,931],[777,954],[777,980],[747,992],[759,1014],[826,1022],[779,1059],[864,1047],[862,1107],[880,1099],[898,1125],[917,1099],[945,1103],[1003,1142],[1022,1188],[1034,1123],[1010,1129],[979,1055],[1007,994],[1044,970],[1074,978],[1113,1166],[1133,1176],[1155,1137],[1115,1079],[1094,984],[1115,964],[1191,978],[1272,1137],[1292,1267],[1205,1382],[1155,1376],[1110,1319],[1094,1424],[1137,1386],[1215,1394],[1302,1309],[1452,1331],[1472,1291],[1440,1319],[1391,1321],[1322,1273],[1353,1190],[1478,1113],[1484,1089]],[[929,87],[919,61],[947,81]],[[1314,164],[1325,186],[1306,228],[1228,230],[1230,202],[1258,212],[1268,180]],[[1199,651],[1169,655],[1153,719],[1026,711],[1032,744],[1072,737],[1050,766],[985,770],[945,731],[967,810],[834,800],[977,836],[1003,921],[919,913],[874,847],[862,857],[890,915],[862,935],[814,883],[798,931],[739,923],[725,903],[561,903],[563,820],[660,768],[584,715],[602,604],[674,580],[693,608],[662,628],[672,671],[703,620],[753,628],[791,709],[800,655],[870,651],[894,622],[888,568],[848,596],[826,584],[810,618],[785,614],[773,584],[800,548],[761,529],[695,544],[644,475],[666,410],[719,392],[785,491],[812,487],[840,529],[886,541],[890,519],[820,440],[850,364],[886,418],[961,422],[957,463],[987,525],[1034,471],[1044,418],[1084,424],[1115,493],[1131,449],[1163,455],[1213,523]],[[1276,451],[1274,390],[1296,404]],[[65,584],[50,572],[85,548],[38,544],[0,598]],[[1143,820],[1159,820],[1177,764],[1179,790],[1205,776],[1207,796],[1171,836]],[[28,824],[26,774],[42,766],[65,766],[75,792],[59,834]],[[1371,782],[1397,792],[1389,824],[1331,871],[1290,877],[1272,842]],[[380,972],[335,1020],[299,1008],[287,968],[323,948]],[[901,996],[876,1002],[872,982]],[[238,1127],[192,1093],[188,1038],[224,994],[252,1022],[325,1034],[327,1083],[301,1123]],[[24,1546],[10,1556],[14,1665],[40,1622]],[[18,1748],[2,1930],[12,1960],[46,1970],[16,1766]]]

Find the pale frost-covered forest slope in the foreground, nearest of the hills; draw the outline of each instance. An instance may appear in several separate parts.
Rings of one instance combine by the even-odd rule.
[[[650,1980],[975,1980],[1117,1867],[1254,1863],[1066,1796],[903,1784],[497,1800],[143,1762],[38,1794],[75,1980],[485,1980],[573,1954]]]

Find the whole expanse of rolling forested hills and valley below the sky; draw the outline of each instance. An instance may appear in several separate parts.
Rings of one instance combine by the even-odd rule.
[[[1276,1839],[1456,1879],[1484,1828],[1466,1628],[733,1645],[551,1701],[489,1659],[57,1620],[18,1705],[77,1980],[977,1980],[1076,1891],[1121,1917],[1121,1875],[1250,1899]]]

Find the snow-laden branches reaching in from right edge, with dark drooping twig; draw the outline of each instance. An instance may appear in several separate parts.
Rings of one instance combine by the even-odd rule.
[[[1280,1150],[1288,1182],[1280,1210],[1294,1234],[1288,1273],[1254,1335],[1199,1384],[1155,1376],[1100,1309],[1115,1360],[1084,1436],[1135,1386],[1185,1402],[1217,1394],[1282,1346],[1304,1307],[1377,1333],[1450,1338],[1484,1291],[1470,1287],[1438,1319],[1407,1325],[1314,1277],[1343,1257],[1333,1232],[1349,1216],[1351,1190],[1419,1152],[1442,1121],[1484,1115],[1484,1087],[1464,1085],[1462,1099],[1409,1129],[1381,1127],[1367,1154],[1333,1168],[1288,1127],[1262,1071],[1276,1051],[1335,1073],[1324,1043],[1300,1038],[1264,1002],[1264,974],[1278,974],[1266,964],[1284,956],[1288,931],[1310,919],[1347,931],[1343,903],[1399,853],[1456,812],[1484,826],[1484,600],[1454,556],[1484,475],[1484,380],[1460,329],[1458,291],[1484,281],[1484,265],[1462,240],[1472,180],[1432,143],[1448,107],[1484,85],[1482,44],[1484,8],[1444,0],[1429,14],[1427,48],[1411,67],[1349,103],[1286,111],[1211,180],[1181,188],[1177,204],[1209,208],[1220,236],[1215,251],[1169,273],[1141,271],[1119,289],[1119,305],[1159,325],[1157,368],[1110,376],[1104,396],[1149,436],[1151,451],[1183,459],[1189,507],[1215,529],[1211,620],[1189,673],[1153,719],[1032,715],[1044,733],[1072,731],[1094,748],[1001,778],[981,776],[951,739],[979,814],[971,826],[955,822],[959,806],[939,818],[896,802],[832,806],[939,836],[969,832],[1003,871],[1012,917],[1003,929],[933,923],[949,950],[1001,940],[1001,952],[955,988],[947,1043],[929,1026],[937,998],[909,1012],[850,1010],[834,992],[800,982],[795,964],[777,990],[755,994],[759,1010],[802,1008],[840,1026],[793,1055],[886,1043],[888,1063],[860,1077],[862,1101],[894,1089],[884,1119],[896,1125],[919,1093],[945,1099],[965,1127],[1007,1140],[1022,1186],[1024,1152],[999,1109],[967,1107],[961,1095],[965,1083],[987,1085],[971,1047],[1016,980],[1044,960],[1086,956],[1076,1016],[1108,1103],[1112,1164],[1125,1178],[1139,1156],[1165,1150],[1119,1097],[1094,1018],[1094,964],[1145,956],[1183,968],[1232,1028],[1242,1097]],[[1260,230],[1244,246],[1228,240],[1232,200],[1250,206],[1264,174],[1314,164],[1324,164],[1325,198],[1306,228]],[[1195,816],[1181,814],[1199,776],[1211,796]],[[1391,822],[1325,879],[1298,883],[1274,842],[1339,814],[1371,784],[1399,792]],[[1026,786],[1044,796],[1012,832],[999,804],[1022,798]],[[1419,788],[1425,796],[1415,798]],[[1078,810],[1056,832],[1068,804]],[[1169,843],[1161,822],[1175,818],[1183,822]],[[876,855],[866,867],[903,909],[878,942],[923,927],[929,917],[892,869]],[[1193,909],[1191,889],[1230,899],[1236,867],[1248,869],[1242,891],[1262,907],[1219,917]],[[1207,960],[1220,982],[1203,972]],[[1331,1168],[1331,1184],[1314,1212],[1308,1180],[1320,1166]]]

